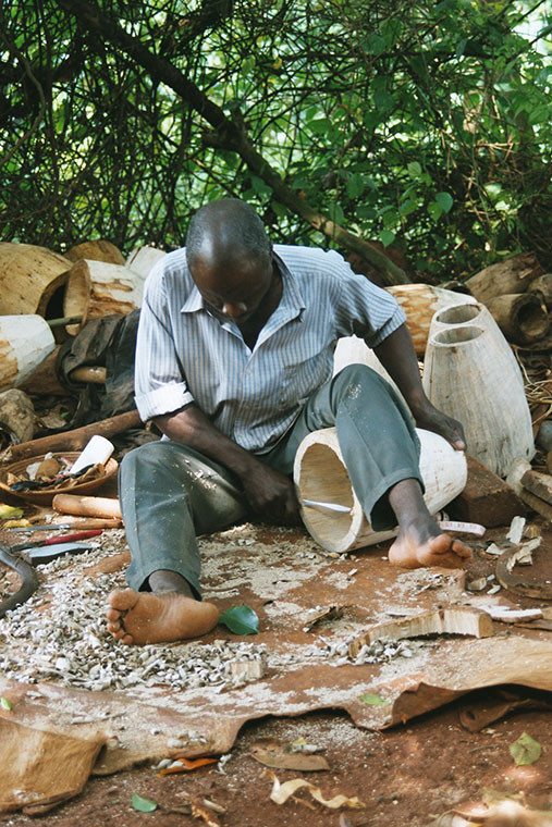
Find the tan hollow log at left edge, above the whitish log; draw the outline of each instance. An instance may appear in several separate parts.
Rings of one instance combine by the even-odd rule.
[[[64,287],[71,261],[33,244],[0,243],[0,314],[47,316],[48,303]]]

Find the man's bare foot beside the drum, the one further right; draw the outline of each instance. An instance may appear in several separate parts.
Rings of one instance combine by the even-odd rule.
[[[401,529],[389,550],[389,561],[403,568],[463,568],[470,557],[471,550],[461,540],[440,531],[436,522]]]

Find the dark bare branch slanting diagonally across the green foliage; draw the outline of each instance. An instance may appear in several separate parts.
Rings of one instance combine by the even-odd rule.
[[[366,259],[378,270],[385,285],[408,283],[409,280],[404,270],[383,252],[302,200],[257,151],[242,125],[229,119],[220,107],[209,100],[201,89],[188,81],[170,61],[154,54],[144,44],[128,35],[114,20],[93,3],[86,0],[57,0],[57,2],[75,17],[77,25],[115,45],[138,65],[146,69],[152,77],[167,84],[187,101],[217,131],[221,140],[220,145],[236,152],[247,166],[272,188],[275,200],[281,201],[335,243]]]

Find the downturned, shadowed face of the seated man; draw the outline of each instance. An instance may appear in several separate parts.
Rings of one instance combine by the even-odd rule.
[[[217,264],[197,258],[191,272],[197,289],[217,316],[243,324],[255,317],[270,291],[272,256],[268,261],[241,256]]]

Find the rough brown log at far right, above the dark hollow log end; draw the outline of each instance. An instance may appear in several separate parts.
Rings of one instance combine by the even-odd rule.
[[[533,252],[517,256],[486,267],[466,282],[466,287],[483,305],[505,293],[525,293],[532,281],[543,273]]]

